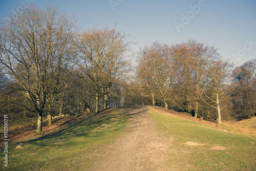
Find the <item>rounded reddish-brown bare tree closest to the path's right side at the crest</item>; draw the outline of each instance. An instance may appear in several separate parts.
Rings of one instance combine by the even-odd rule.
[[[178,59],[172,47],[154,42],[140,50],[136,67],[137,79],[150,90],[153,105],[156,96],[168,109],[168,102],[175,103],[173,88],[178,79]]]

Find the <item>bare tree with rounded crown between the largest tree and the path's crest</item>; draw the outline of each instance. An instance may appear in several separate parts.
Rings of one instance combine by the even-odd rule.
[[[104,96],[104,105],[108,101],[110,88],[116,78],[123,74],[127,61],[124,54],[130,42],[125,42],[125,34],[116,29],[89,29],[82,32],[74,41],[78,49],[75,63],[80,67],[84,80],[87,80],[95,91],[96,112],[99,112],[100,98]]]

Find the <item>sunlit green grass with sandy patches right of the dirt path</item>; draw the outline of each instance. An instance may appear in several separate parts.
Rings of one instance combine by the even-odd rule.
[[[256,139],[197,122],[151,112],[160,132],[172,139],[168,165],[176,170],[256,170]],[[205,144],[188,146],[188,141]],[[226,147],[214,150],[214,146]]]

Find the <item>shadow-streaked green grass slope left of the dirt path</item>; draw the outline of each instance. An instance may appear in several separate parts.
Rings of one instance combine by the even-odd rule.
[[[97,114],[55,133],[8,146],[8,168],[0,170],[84,170],[104,155],[104,145],[121,135],[129,115],[120,109]],[[3,150],[4,147],[2,146]],[[2,151],[3,152],[3,151]],[[0,154],[3,160],[4,153]],[[1,161],[2,161],[1,160]]]

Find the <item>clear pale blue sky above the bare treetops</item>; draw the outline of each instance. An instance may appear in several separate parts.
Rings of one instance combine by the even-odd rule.
[[[0,0],[0,20],[20,6],[54,4],[76,14],[81,30],[116,28],[136,55],[154,41],[169,45],[196,39],[215,46],[237,66],[256,58],[256,0]]]

